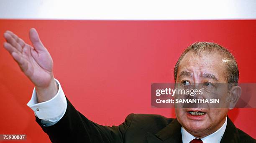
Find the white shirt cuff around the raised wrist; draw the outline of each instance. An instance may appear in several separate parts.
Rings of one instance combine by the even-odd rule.
[[[39,119],[53,119],[62,117],[67,109],[67,99],[58,80],[54,79],[59,89],[57,94],[48,101],[38,103],[36,88],[34,88],[31,100],[27,103]]]

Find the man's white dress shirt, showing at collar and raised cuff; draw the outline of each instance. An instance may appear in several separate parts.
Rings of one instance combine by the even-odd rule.
[[[59,87],[57,94],[48,101],[38,103],[36,89],[34,88],[31,100],[27,105],[34,111],[35,115],[41,119],[44,126],[51,126],[57,123],[65,114],[67,109],[67,99],[61,88],[58,80],[54,79]],[[227,118],[225,123],[214,133],[201,138],[204,143],[220,143],[220,140],[225,132],[227,126]],[[181,128],[183,143],[189,143],[195,139],[193,135],[187,132],[183,127]]]

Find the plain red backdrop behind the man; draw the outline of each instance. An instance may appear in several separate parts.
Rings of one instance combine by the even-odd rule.
[[[77,110],[96,123],[118,125],[129,113],[175,117],[173,109],[151,108],[151,83],[174,82],[174,64],[196,41],[227,47],[237,59],[239,82],[255,83],[255,25],[256,20],[0,20],[0,33],[11,30],[30,43],[28,30],[36,28],[54,60],[54,76]],[[0,134],[26,134],[26,142],[50,143],[26,106],[32,90],[2,45]],[[256,138],[255,111],[239,108],[228,115]]]

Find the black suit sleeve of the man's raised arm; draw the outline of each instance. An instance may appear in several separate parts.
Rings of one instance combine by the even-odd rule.
[[[49,135],[52,143],[123,143],[133,116],[128,115],[118,126],[99,125],[79,113],[67,99],[67,110],[56,124],[46,127],[38,117],[36,122]]]

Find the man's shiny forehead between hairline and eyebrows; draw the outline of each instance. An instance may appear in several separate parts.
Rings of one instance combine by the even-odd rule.
[[[193,76],[212,74],[219,81],[225,81],[225,63],[223,56],[218,52],[202,53],[202,55],[188,52],[179,63],[177,77],[184,71],[192,73]]]

